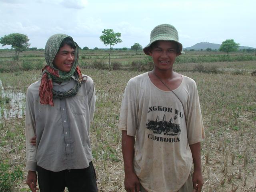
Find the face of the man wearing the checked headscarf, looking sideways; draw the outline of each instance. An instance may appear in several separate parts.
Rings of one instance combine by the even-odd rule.
[[[61,71],[70,72],[75,60],[75,50],[69,45],[65,44],[56,54],[53,64]]]

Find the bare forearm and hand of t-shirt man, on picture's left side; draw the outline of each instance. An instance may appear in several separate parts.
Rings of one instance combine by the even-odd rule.
[[[127,192],[139,192],[140,181],[134,172],[134,137],[127,135],[127,131],[122,131],[122,153],[124,158],[124,187]]]

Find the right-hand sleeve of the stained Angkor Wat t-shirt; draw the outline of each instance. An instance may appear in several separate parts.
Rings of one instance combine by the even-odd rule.
[[[205,138],[204,124],[196,83],[194,83],[191,90],[188,101],[188,117],[186,120],[188,143],[190,145],[201,142]]]

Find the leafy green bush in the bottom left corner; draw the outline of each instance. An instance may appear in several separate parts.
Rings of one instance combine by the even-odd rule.
[[[13,192],[17,181],[23,179],[20,167],[11,170],[9,164],[0,163],[0,191]]]

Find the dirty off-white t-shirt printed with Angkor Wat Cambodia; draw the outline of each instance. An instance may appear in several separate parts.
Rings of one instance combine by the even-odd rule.
[[[189,145],[204,138],[196,83],[182,75],[173,91],[180,100],[144,73],[129,80],[122,99],[118,128],[136,136],[134,170],[148,192],[178,191],[191,171]]]

